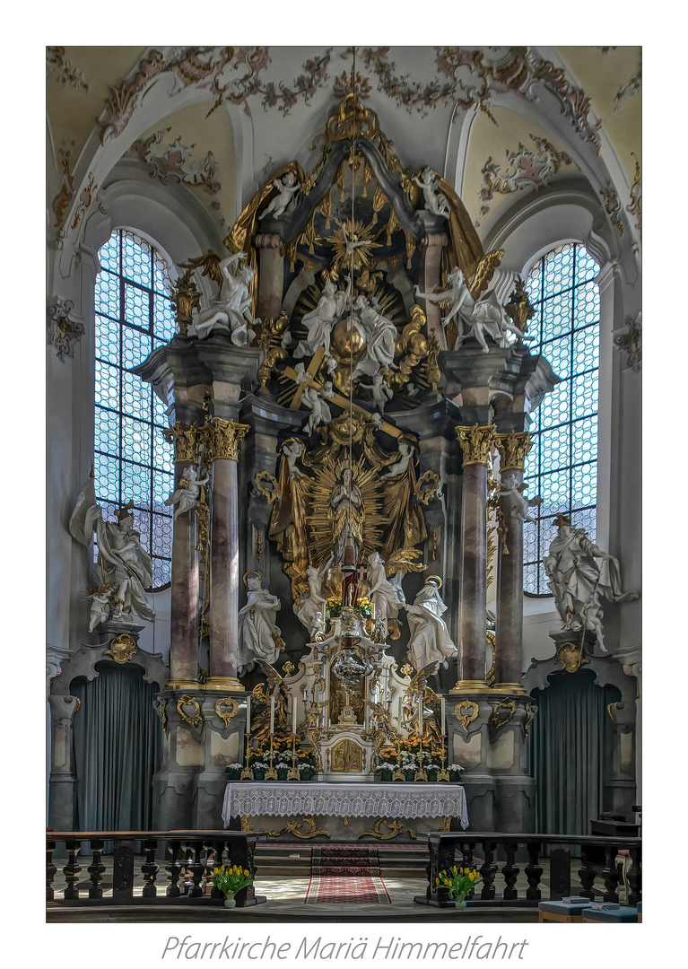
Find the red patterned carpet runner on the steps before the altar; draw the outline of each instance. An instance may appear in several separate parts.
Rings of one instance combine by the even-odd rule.
[[[304,901],[306,905],[315,902],[391,904],[390,894],[380,877],[377,848],[314,846]]]

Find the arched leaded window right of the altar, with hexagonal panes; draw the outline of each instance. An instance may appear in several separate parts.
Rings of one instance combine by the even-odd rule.
[[[533,414],[534,446],[525,465],[528,495],[542,505],[523,529],[523,587],[547,595],[543,559],[557,528],[570,515],[594,540],[597,505],[599,266],[579,244],[561,245],[531,269],[526,291],[535,308],[528,332],[531,352],[542,354],[561,382]]]

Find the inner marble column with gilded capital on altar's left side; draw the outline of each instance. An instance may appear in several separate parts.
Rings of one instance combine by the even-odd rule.
[[[243,690],[236,678],[239,608],[239,442],[248,424],[214,418],[205,427],[212,463],[210,675],[206,689]]]

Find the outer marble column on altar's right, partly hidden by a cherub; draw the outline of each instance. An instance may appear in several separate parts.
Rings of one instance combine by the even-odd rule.
[[[500,455],[500,472],[523,483],[523,467],[533,444],[527,431],[497,434],[495,443]],[[506,547],[509,554],[498,552],[497,565],[497,631],[495,681],[493,690],[525,693],[520,678],[523,645],[523,521],[509,517]]]

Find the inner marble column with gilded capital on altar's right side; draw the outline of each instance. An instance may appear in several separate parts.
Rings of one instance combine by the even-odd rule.
[[[487,598],[487,466],[494,424],[456,427],[463,452],[461,579],[458,593],[458,681],[452,693],[488,690],[485,682]]]

